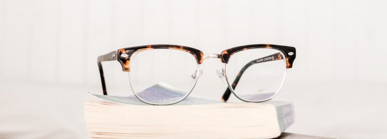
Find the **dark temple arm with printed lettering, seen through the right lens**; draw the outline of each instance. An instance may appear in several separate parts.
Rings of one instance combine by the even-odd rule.
[[[273,55],[269,55],[269,56],[255,59],[255,60],[248,62],[246,65],[244,65],[242,67],[242,69],[239,71],[238,75],[236,76],[234,82],[231,84],[232,89],[235,89],[236,85],[239,82],[240,77],[242,77],[242,74],[244,73],[244,71],[246,71],[246,69],[248,67],[250,67],[251,65],[257,64],[257,63],[262,63],[262,62],[281,60],[281,59],[284,59],[284,58],[283,58],[282,54],[280,52],[278,52],[278,53],[275,53]],[[226,91],[223,94],[222,100],[224,102],[226,102],[228,100],[228,98],[230,97],[230,95],[231,95],[231,90],[229,87],[227,87]]]

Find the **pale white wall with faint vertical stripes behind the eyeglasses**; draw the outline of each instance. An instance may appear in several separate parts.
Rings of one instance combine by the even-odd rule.
[[[297,48],[288,80],[385,84],[384,9],[384,1],[349,0],[1,0],[0,78],[98,86],[96,57],[118,48],[178,44],[219,53],[270,43]],[[114,84],[121,73],[111,65]]]

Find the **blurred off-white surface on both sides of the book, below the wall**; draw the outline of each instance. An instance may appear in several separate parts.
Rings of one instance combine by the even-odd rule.
[[[83,115],[86,87],[15,82],[3,82],[0,87],[0,138],[87,138]],[[276,99],[294,103],[296,120],[287,132],[387,138],[385,90],[381,85],[297,88],[288,84]],[[348,92],[352,95],[347,96]],[[331,101],[320,101],[327,97]]]

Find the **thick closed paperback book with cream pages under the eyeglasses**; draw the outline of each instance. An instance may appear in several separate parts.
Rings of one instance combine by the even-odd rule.
[[[141,93],[155,92],[179,93],[162,84]],[[274,138],[294,122],[293,105],[286,101],[225,103],[188,96],[160,106],[135,96],[89,94],[94,96],[85,101],[90,138]]]

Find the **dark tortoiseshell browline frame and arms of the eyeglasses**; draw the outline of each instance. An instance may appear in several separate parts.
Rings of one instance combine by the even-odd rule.
[[[272,55],[269,55],[269,56],[266,56],[263,58],[252,60],[251,62],[247,63],[240,70],[240,72],[238,73],[237,77],[235,78],[235,80],[231,84],[231,86],[230,86],[230,83],[228,83],[228,88],[226,89],[226,91],[224,92],[223,97],[222,97],[223,101],[227,101],[229,96],[231,95],[231,93],[234,93],[233,91],[231,91],[230,88],[234,89],[236,87],[243,72],[249,66],[251,66],[253,64],[257,64],[257,63],[262,63],[262,62],[285,59],[286,60],[286,68],[292,68],[293,61],[296,58],[296,49],[294,47],[290,47],[290,46],[271,45],[271,44],[254,44],[254,45],[245,45],[245,46],[230,48],[230,49],[222,51],[220,54],[206,54],[205,55],[202,51],[197,50],[195,48],[178,46],[178,45],[146,45],[146,46],[122,48],[122,49],[118,49],[116,51],[107,53],[105,55],[99,56],[97,59],[99,73],[100,73],[100,77],[101,77],[103,95],[107,95],[105,78],[104,78],[103,69],[102,69],[102,65],[101,65],[101,62],[104,62],[104,61],[118,61],[122,66],[122,71],[130,72],[130,63],[131,63],[131,58],[132,58],[131,56],[135,55],[136,52],[143,51],[143,50],[151,50],[151,49],[175,49],[175,50],[181,50],[181,51],[185,51],[185,52],[192,54],[193,56],[195,56],[198,64],[202,64],[203,60],[208,59],[208,58],[219,58],[222,63],[227,64],[229,59],[231,58],[231,56],[233,54],[235,54],[239,51],[243,51],[243,50],[247,50],[247,49],[255,49],[255,48],[277,49],[277,50],[281,51],[285,57],[282,57],[282,54],[280,54],[280,53],[276,53],[276,54],[272,54]],[[223,72],[225,72],[225,71],[223,71]],[[243,101],[245,101],[245,100],[243,100]]]

